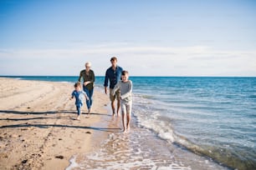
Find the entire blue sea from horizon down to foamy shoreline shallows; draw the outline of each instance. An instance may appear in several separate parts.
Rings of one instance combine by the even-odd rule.
[[[256,77],[130,79],[131,132],[111,133],[84,160],[72,158],[67,169],[256,169]],[[96,87],[103,90],[103,82],[96,77]]]

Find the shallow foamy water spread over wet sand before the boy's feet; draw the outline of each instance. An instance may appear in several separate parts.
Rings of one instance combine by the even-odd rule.
[[[110,121],[121,127],[120,118]],[[74,156],[67,169],[228,169],[138,127],[135,117],[132,122],[129,133],[109,133],[93,153],[84,153],[79,160]]]

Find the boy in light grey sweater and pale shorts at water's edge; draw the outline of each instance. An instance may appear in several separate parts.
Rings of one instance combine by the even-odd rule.
[[[117,82],[115,85],[112,94],[115,94],[117,90],[120,89],[120,105],[122,111],[122,122],[124,127],[124,133],[130,130],[130,120],[131,120],[131,92],[132,92],[132,82],[128,80],[129,73],[127,71],[122,71],[121,74],[122,80]],[[125,114],[127,122],[125,124]]]

